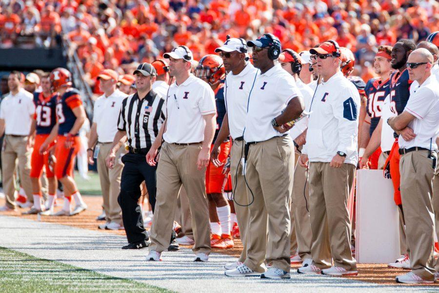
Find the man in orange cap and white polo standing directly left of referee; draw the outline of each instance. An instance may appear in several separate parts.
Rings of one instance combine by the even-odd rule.
[[[110,153],[113,138],[118,131],[117,119],[126,94],[116,88],[118,74],[111,69],[103,70],[98,76],[100,89],[104,92],[93,108],[93,125],[90,129],[88,139],[88,163],[93,165],[93,158],[98,159],[98,173],[100,187],[102,189],[103,209],[105,211],[106,223],[99,226],[99,229],[120,230],[123,229],[122,217],[118,196],[120,192],[120,175],[123,164],[117,160],[113,168],[108,168],[105,159]],[[121,147],[117,152],[119,158],[125,153]]]

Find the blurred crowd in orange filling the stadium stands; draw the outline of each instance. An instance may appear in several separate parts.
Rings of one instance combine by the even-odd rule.
[[[53,46],[63,31],[95,93],[104,68],[132,72],[182,44],[199,60],[226,35],[250,40],[263,32],[296,52],[337,40],[355,52],[354,74],[369,80],[379,45],[418,42],[439,30],[434,0],[3,0],[0,12],[0,47],[25,37]]]

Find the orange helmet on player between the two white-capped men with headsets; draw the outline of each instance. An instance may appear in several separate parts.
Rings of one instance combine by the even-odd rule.
[[[221,79],[225,78],[222,58],[214,54],[204,56],[195,68],[195,76],[207,79],[210,85],[219,83]]]

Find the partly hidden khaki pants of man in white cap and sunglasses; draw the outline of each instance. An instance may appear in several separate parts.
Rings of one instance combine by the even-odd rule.
[[[239,234],[242,242],[242,251],[239,255],[239,262],[244,262],[247,258],[247,231],[250,221],[249,198],[245,186],[244,175],[242,175],[241,158],[244,158],[243,141],[233,141],[230,150],[230,174],[232,176],[232,191],[235,206],[236,219],[238,221]]]

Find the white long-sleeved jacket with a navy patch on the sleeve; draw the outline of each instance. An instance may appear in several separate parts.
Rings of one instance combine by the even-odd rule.
[[[306,145],[302,153],[310,162],[329,163],[338,151],[344,163],[357,166],[360,97],[357,87],[341,72],[317,87],[308,118]]]

